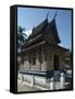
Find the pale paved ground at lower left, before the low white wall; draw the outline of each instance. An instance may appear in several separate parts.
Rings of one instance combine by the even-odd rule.
[[[23,85],[22,82],[17,82],[17,91],[37,91],[38,88],[32,88],[27,85]]]

